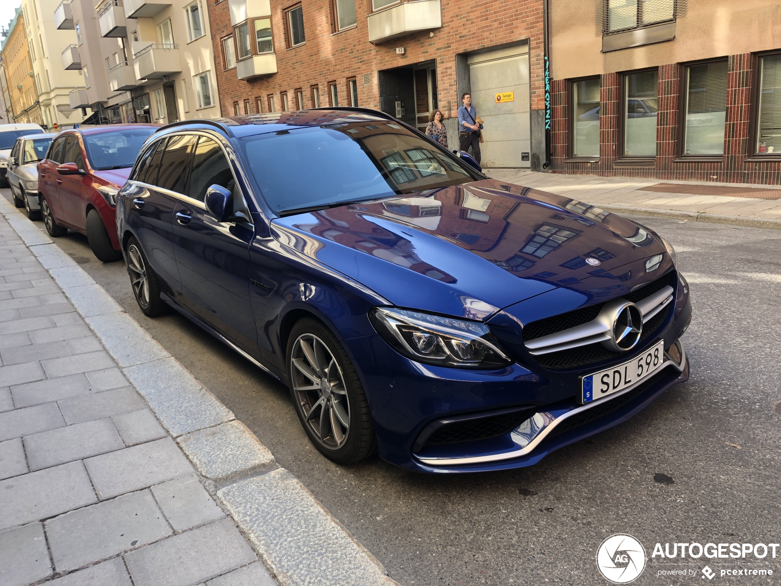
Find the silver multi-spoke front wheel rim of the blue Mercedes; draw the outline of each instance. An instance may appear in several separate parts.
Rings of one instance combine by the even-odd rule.
[[[316,335],[301,334],[293,346],[291,371],[305,425],[323,447],[341,448],[350,430],[350,405],[333,353]]]

